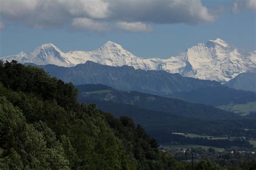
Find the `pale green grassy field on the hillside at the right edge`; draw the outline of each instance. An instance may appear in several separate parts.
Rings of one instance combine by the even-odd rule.
[[[227,104],[227,105],[220,105],[217,107],[222,110],[226,111],[232,111],[235,114],[240,114],[241,116],[246,116],[248,115],[251,111],[256,111],[256,102],[248,102],[246,104]]]

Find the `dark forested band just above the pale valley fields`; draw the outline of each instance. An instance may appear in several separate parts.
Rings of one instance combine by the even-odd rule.
[[[172,132],[193,133],[203,136],[237,136],[247,138],[255,138],[256,135],[256,124],[253,119],[204,121],[166,112],[146,110],[130,104],[90,99],[84,100],[84,98],[81,98],[79,101],[96,103],[96,108],[111,112],[117,117],[131,117],[136,123],[142,125],[159,143],[169,143],[170,138],[168,137]]]

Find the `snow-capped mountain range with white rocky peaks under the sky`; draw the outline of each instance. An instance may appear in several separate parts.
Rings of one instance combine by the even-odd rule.
[[[169,73],[180,73],[183,76],[226,82],[240,73],[256,68],[256,51],[241,54],[237,48],[217,38],[208,40],[205,44],[197,44],[178,56],[171,56],[168,59],[143,59],[126,51],[122,46],[107,41],[102,47],[90,52],[63,53],[53,44],[44,44],[32,53],[21,52],[17,55],[6,56],[2,60],[64,67],[93,61],[102,65],[127,65],[136,69],[166,70]]]

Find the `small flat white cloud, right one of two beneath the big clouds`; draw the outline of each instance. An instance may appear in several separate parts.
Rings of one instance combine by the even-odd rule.
[[[118,22],[118,29],[129,31],[129,32],[152,32],[153,27],[141,22],[136,23],[127,23],[127,22]]]

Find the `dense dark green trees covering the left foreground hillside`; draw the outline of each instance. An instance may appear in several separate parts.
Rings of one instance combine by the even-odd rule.
[[[0,63],[0,169],[183,169],[128,117],[78,104],[71,83]]]

